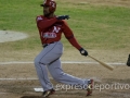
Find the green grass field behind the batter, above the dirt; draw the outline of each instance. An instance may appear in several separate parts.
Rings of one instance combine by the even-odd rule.
[[[84,0],[81,0],[84,1]],[[56,0],[56,15],[68,14],[70,28],[86,49],[129,50],[130,8]],[[42,0],[0,0],[0,29],[27,33],[27,39],[0,44],[1,51],[39,51],[41,44],[36,16]],[[64,47],[73,49],[63,36]]]

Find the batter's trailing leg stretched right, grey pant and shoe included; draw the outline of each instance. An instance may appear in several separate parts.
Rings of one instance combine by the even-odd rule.
[[[48,65],[48,69],[55,81],[69,85],[70,87],[75,86],[76,89],[86,89],[87,96],[90,96],[92,94],[93,79],[79,78],[64,73],[61,66],[60,59]]]

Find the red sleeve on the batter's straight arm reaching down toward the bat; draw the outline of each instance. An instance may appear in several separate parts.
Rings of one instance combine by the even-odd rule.
[[[67,38],[67,40],[78,50],[81,48],[81,46],[78,44],[78,41],[76,40],[73,30],[68,27],[67,23],[64,21],[63,24],[63,33],[65,35],[65,37]]]

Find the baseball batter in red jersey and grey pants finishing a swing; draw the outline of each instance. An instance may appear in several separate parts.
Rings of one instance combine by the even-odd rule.
[[[66,85],[87,85],[87,96],[92,94],[93,79],[78,78],[67,73],[64,73],[61,66],[61,56],[63,54],[63,44],[61,42],[62,33],[66,39],[79,50],[82,56],[88,56],[84,50],[76,40],[73,30],[68,27],[65,20],[68,20],[68,15],[56,16],[54,14],[56,10],[56,2],[53,0],[44,0],[43,15],[36,17],[37,27],[43,50],[36,57],[35,66],[43,88],[43,97],[49,97],[54,94],[54,87],[48,77],[48,71],[52,77],[60,83]]]

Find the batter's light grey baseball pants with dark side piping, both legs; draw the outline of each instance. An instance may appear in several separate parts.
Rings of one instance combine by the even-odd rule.
[[[35,59],[35,66],[43,90],[53,88],[48,77],[48,71],[52,77],[60,83],[66,85],[87,85],[88,79],[78,78],[64,73],[61,66],[61,56],[63,53],[63,45],[61,41],[49,44]]]

